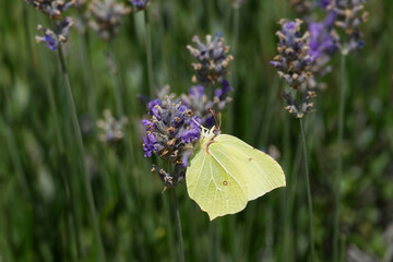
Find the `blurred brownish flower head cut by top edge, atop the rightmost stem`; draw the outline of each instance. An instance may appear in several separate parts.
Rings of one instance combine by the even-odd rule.
[[[344,55],[362,48],[365,40],[361,38],[360,25],[368,21],[368,12],[364,9],[367,0],[331,0],[327,10],[336,14],[335,26],[345,33],[342,41]]]

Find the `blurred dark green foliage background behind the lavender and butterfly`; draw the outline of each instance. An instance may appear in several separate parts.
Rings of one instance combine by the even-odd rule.
[[[57,52],[34,40],[37,25],[48,25],[48,20],[25,1],[0,3],[0,261],[98,261]],[[366,9],[366,47],[347,59],[341,254],[343,261],[366,261],[354,260],[354,253],[391,261],[393,2],[369,1]],[[186,261],[308,261],[299,127],[283,109],[279,93],[285,84],[269,64],[276,55],[276,22],[299,14],[286,0],[246,0],[238,10],[229,0],[156,0],[148,12],[155,87],[169,84],[172,92],[187,93],[194,60],[186,46],[193,35],[223,33],[235,57],[229,78],[235,92],[231,108],[223,111],[222,130],[261,150],[274,145],[287,177],[287,188],[214,224],[180,184]],[[75,10],[67,14],[80,17]],[[170,196],[162,193],[159,178],[150,171],[152,159],[142,151],[140,121],[146,108],[138,97],[147,86],[144,36],[143,12],[133,10],[112,47],[91,29],[83,35],[73,28],[63,48],[107,261],[176,258]],[[109,52],[117,60],[129,119],[126,146],[118,152],[98,140],[95,126],[106,108],[119,117]],[[318,261],[332,261],[340,56],[331,66],[333,71],[323,79],[327,88],[318,94],[315,111],[306,119]]]

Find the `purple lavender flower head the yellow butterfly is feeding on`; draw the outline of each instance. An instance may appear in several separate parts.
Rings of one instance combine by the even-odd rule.
[[[172,103],[169,97],[165,103],[160,99],[150,102],[148,109],[150,118],[142,120],[146,130],[142,138],[144,156],[155,154],[175,164],[171,175],[156,166],[152,169],[159,175],[165,187],[170,188],[184,178],[192,147],[201,136],[201,119],[181,102]]]

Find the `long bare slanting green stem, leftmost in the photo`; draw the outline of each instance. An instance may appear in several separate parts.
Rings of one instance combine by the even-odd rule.
[[[83,172],[83,177],[84,177],[84,187],[85,187],[87,203],[88,203],[88,207],[90,207],[90,212],[91,212],[91,219],[92,219],[92,224],[93,224],[93,228],[94,228],[94,234],[95,234],[97,245],[98,245],[99,261],[106,261],[103,240],[100,238],[98,222],[96,218],[96,210],[95,210],[95,204],[94,204],[92,184],[91,184],[91,181],[88,179],[88,174],[87,174],[85,150],[84,150],[84,145],[83,145],[81,128],[80,128],[80,124],[78,121],[75,103],[73,99],[73,94],[72,94],[71,84],[70,84],[70,78],[69,78],[69,74],[67,71],[67,66],[66,66],[61,46],[59,46],[59,48],[58,48],[58,55],[59,55],[61,71],[62,71],[64,82],[66,82],[66,92],[67,92],[67,98],[69,102],[70,115],[71,115],[70,117],[72,120],[72,126],[73,126],[73,129],[75,132],[78,147],[80,150],[80,154],[81,154],[81,158],[82,158],[81,166],[82,166],[82,172]]]

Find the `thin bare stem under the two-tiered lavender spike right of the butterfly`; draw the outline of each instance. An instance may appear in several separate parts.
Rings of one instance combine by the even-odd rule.
[[[312,195],[311,195],[311,188],[310,188],[310,175],[308,169],[308,162],[307,162],[307,145],[306,145],[306,135],[305,135],[305,127],[302,119],[299,118],[300,130],[301,130],[301,141],[302,141],[302,148],[303,148],[303,158],[305,158],[305,169],[306,169],[306,189],[307,189],[307,203],[309,210],[309,237],[310,237],[310,252],[311,252],[311,261],[315,261],[315,251],[314,251],[314,240],[313,240],[313,223],[312,223]]]

